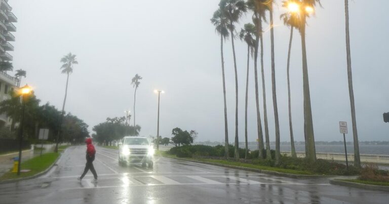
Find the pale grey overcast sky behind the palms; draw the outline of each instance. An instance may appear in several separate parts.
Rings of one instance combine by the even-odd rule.
[[[290,141],[286,60],[290,29],[275,8],[275,63],[281,141]],[[133,113],[131,78],[143,77],[137,91],[136,122],[141,135],[157,134],[158,96],[161,96],[160,133],[196,130],[198,141],[223,141],[224,116],[220,65],[220,38],[210,18],[218,0],[19,0],[9,1],[17,32],[14,69],[25,69],[28,83],[42,104],[62,107],[66,76],[60,59],[71,52],[79,65],[69,78],[65,110],[83,119],[89,129],[106,117]],[[377,6],[379,5],[379,6]],[[316,16],[308,20],[306,48],[310,97],[317,141],[339,141],[339,121],[347,121],[352,141],[347,86],[344,1],[322,1]],[[389,124],[389,1],[349,1],[351,54],[358,135],[361,141],[388,140]],[[247,13],[238,30],[250,22]],[[266,24],[265,27],[268,25]],[[266,30],[266,28],[265,28]],[[239,139],[244,141],[244,102],[247,47],[236,42],[239,82]],[[270,33],[264,33],[264,65],[270,141],[275,141],[271,98]],[[235,75],[231,42],[224,44],[229,140],[235,136]],[[303,141],[301,42],[294,32],[291,51],[291,97],[296,141]],[[252,61],[251,61],[252,62]],[[259,85],[261,85],[259,75]],[[259,95],[262,96],[260,87]],[[253,63],[250,64],[249,141],[255,141],[256,108]],[[260,97],[263,122],[262,97]],[[131,113],[131,114],[132,114]],[[133,117],[130,123],[133,123]],[[262,124],[263,126],[263,124]]]

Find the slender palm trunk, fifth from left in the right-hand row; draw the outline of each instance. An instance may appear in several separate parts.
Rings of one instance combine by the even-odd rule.
[[[267,125],[267,108],[266,108],[266,88],[265,88],[265,73],[263,70],[263,35],[262,35],[262,20],[258,21],[259,39],[261,41],[261,75],[262,75],[262,97],[263,97],[263,121],[265,125],[265,140],[266,140],[266,159],[271,159],[269,128]]]

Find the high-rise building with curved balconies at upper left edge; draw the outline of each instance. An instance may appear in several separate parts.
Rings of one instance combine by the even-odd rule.
[[[13,57],[8,52],[14,51],[14,46],[10,42],[15,41],[15,36],[12,32],[16,31],[13,23],[17,22],[18,18],[12,13],[12,7],[8,4],[8,0],[0,0],[0,61],[12,61]],[[0,101],[9,99],[9,92],[17,84],[17,79],[6,72],[0,71]],[[9,126],[11,118],[6,114],[0,114],[0,127]]]

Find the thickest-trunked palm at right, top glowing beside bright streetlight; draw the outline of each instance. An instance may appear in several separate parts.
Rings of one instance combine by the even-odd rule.
[[[301,35],[301,52],[302,52],[302,81],[304,95],[304,136],[305,136],[305,157],[310,162],[316,162],[314,124],[312,120],[312,108],[310,106],[309,80],[308,80],[308,64],[306,59],[305,46],[305,25],[306,18],[313,13],[316,3],[320,4],[319,0],[301,0],[300,2],[300,25],[299,31]]]

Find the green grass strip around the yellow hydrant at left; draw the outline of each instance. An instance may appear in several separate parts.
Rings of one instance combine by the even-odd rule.
[[[12,169],[0,177],[0,181],[8,179],[18,179],[33,176],[35,174],[41,173],[49,168],[53,162],[58,158],[60,153],[50,152],[42,154],[42,156],[36,156],[34,158],[28,159],[20,165],[21,170],[30,170],[28,172],[20,172],[18,176],[16,173],[12,172]]]

